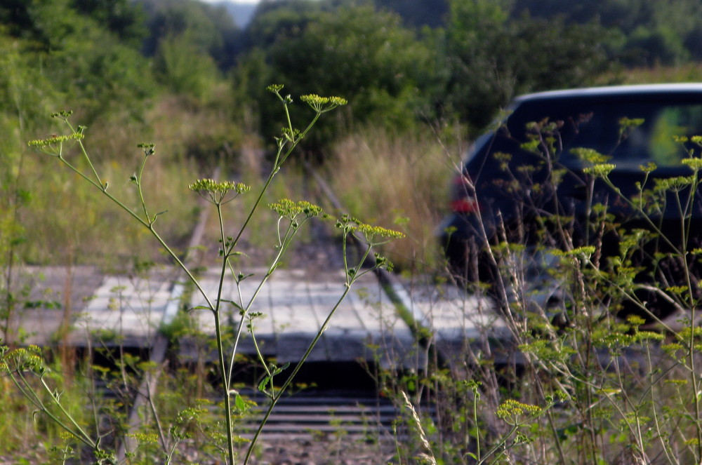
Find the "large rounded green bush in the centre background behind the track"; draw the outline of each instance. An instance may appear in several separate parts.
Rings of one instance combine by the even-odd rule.
[[[251,27],[262,30],[263,44],[271,43],[244,58],[248,65],[237,83],[260,81],[251,76],[255,71],[314,93],[340,93],[349,100],[348,123],[407,129],[416,121],[415,109],[422,100],[418,83],[430,72],[430,55],[400,25],[397,15],[370,6],[333,12],[273,10],[256,18]],[[279,120],[271,117],[270,105],[258,102],[258,106],[263,121],[279,126]],[[331,126],[334,121],[306,146],[326,144]]]

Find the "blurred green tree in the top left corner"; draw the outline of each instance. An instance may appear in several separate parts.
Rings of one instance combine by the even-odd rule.
[[[6,34],[18,40],[29,60],[41,62],[34,72],[51,76],[51,87],[72,105],[96,113],[114,102],[135,103],[153,90],[149,67],[133,40],[143,26],[124,20],[121,32],[129,39],[123,42],[107,27],[105,15],[99,8],[81,11],[71,0],[11,1],[0,8],[8,21]]]

